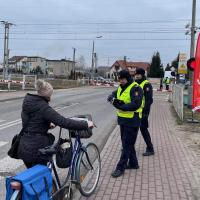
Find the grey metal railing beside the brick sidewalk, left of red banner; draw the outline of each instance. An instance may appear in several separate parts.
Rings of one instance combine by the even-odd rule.
[[[180,85],[173,85],[172,87],[172,103],[179,118],[183,121],[183,90]]]

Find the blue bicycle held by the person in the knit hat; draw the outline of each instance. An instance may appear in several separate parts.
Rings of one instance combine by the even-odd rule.
[[[92,120],[90,115],[80,115],[75,120]],[[91,130],[89,130],[91,131]],[[88,143],[83,145],[81,138],[88,138],[83,136],[83,131],[72,131],[69,130],[69,139],[61,138],[62,128],[59,131],[59,139],[56,143],[51,146],[39,149],[42,155],[47,155],[49,157],[48,167],[51,169],[53,178],[53,200],[70,200],[73,198],[72,184],[75,184],[76,188],[80,193],[85,196],[91,196],[99,181],[100,171],[101,171],[101,160],[98,147],[94,143]],[[85,132],[86,133],[86,132]],[[74,142],[72,144],[72,138]],[[62,139],[65,142],[69,142],[72,147],[72,159],[70,162],[67,177],[64,183],[61,184],[60,178],[58,176],[55,161],[53,155],[58,152],[59,141]],[[11,182],[11,187],[15,190],[11,200],[21,200],[22,186],[19,182]]]

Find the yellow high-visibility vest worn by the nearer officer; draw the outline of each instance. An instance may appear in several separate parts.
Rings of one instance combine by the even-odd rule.
[[[133,82],[131,85],[129,85],[121,94],[122,88],[119,86],[117,89],[117,99],[122,100],[125,104],[131,103],[131,96],[130,96],[130,91],[133,87],[138,85],[136,82]],[[134,112],[139,113],[139,117],[142,118],[142,106],[137,109],[136,111],[122,111],[118,110],[117,115],[119,117],[124,117],[124,118],[133,118],[134,117]]]

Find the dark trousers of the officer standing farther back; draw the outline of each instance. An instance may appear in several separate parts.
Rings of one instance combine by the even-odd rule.
[[[151,142],[151,136],[148,131],[148,127],[149,127],[148,116],[145,116],[141,120],[140,131],[141,131],[144,141],[147,145],[147,150],[153,151],[153,144]]]

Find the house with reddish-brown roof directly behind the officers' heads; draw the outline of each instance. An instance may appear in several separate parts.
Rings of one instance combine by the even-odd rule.
[[[117,60],[110,68],[110,76],[112,78],[118,79],[118,73],[122,69],[129,70],[130,74],[133,76],[136,68],[143,68],[147,74],[149,67],[150,64],[148,62],[127,62],[126,60]]]

